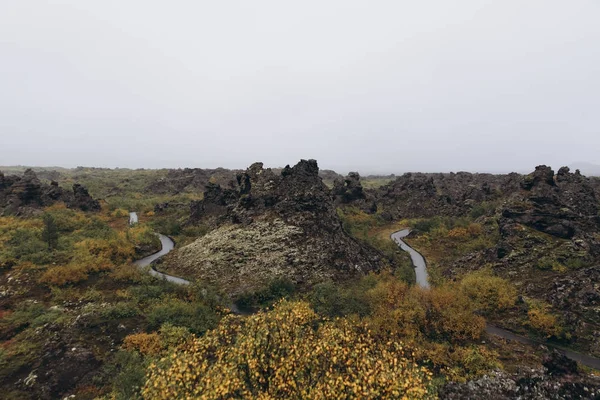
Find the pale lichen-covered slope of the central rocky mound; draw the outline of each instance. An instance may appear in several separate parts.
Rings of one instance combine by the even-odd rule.
[[[226,225],[182,247],[169,269],[235,294],[283,276],[303,282],[331,278],[320,247],[281,219]]]

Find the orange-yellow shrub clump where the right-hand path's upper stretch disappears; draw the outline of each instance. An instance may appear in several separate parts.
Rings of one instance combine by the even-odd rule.
[[[453,380],[479,376],[498,368],[498,355],[473,346],[485,329],[471,300],[458,285],[431,289],[409,286],[382,274],[367,292],[371,315],[365,318],[382,341],[402,340],[415,357]]]

